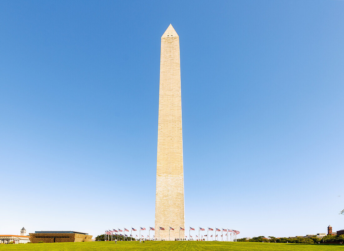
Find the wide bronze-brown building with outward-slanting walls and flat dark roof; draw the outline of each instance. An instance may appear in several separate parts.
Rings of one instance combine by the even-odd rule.
[[[92,241],[92,237],[88,233],[75,231],[35,231],[35,233],[30,233],[31,243],[38,243],[39,241],[46,243]]]

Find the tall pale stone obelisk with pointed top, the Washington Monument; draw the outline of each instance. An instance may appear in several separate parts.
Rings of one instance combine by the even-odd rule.
[[[185,229],[180,54],[170,24],[161,37],[155,238],[185,238],[180,228]]]

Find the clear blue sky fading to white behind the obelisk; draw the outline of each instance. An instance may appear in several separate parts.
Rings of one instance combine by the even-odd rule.
[[[343,229],[343,11],[343,1],[1,1],[0,233],[154,225],[170,23],[186,228]]]

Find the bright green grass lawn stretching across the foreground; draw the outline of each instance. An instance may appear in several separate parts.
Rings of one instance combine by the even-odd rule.
[[[260,242],[221,242],[221,241],[94,241],[94,242],[66,242],[66,243],[40,243],[40,244],[3,244],[3,250],[343,250],[344,245],[336,244],[288,244],[288,243],[260,243]]]

